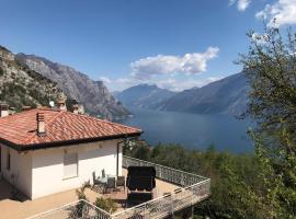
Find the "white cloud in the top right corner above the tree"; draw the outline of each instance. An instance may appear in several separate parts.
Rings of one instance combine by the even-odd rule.
[[[255,16],[267,20],[269,26],[282,26],[296,23],[296,0],[277,0],[273,4],[266,4]],[[273,21],[276,21],[274,24]]]

